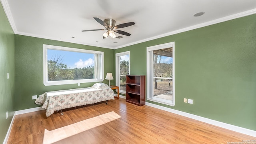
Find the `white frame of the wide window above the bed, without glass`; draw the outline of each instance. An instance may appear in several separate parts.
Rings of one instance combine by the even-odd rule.
[[[48,81],[48,70],[47,70],[47,50],[64,50],[70,52],[82,52],[90,53],[100,56],[95,56],[95,78],[94,79],[83,79],[83,80],[58,80],[58,81]],[[78,48],[68,48],[63,46],[52,46],[52,45],[43,45],[43,71],[44,71],[44,85],[53,86],[53,85],[62,85],[62,84],[78,84],[87,83],[87,82],[102,82],[104,80],[104,52],[94,51],[94,50],[84,50]]]

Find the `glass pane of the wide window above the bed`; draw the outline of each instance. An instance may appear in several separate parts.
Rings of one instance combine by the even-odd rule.
[[[94,79],[94,54],[47,50],[48,81]]]

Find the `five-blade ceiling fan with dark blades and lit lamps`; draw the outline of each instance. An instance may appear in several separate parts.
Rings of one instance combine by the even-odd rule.
[[[96,31],[96,30],[107,30],[107,32],[105,32],[103,34],[103,38],[107,38],[108,36],[110,36],[111,38],[115,38],[116,35],[114,34],[114,32],[116,32],[118,34],[125,35],[125,36],[130,36],[131,34],[129,34],[128,32],[124,32],[122,30],[116,30],[116,29],[124,28],[127,26],[132,26],[135,24],[134,22],[127,22],[127,23],[118,24],[117,26],[115,26],[116,21],[111,18],[105,19],[104,21],[99,18],[94,18],[94,20],[96,20],[98,23],[100,23],[106,29],[82,30],[82,32],[90,32],[90,31]]]

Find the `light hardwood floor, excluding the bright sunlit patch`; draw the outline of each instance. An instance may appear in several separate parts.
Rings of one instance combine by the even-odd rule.
[[[44,129],[54,130],[107,112],[121,118],[86,130],[56,144],[227,144],[256,140],[255,137],[212,126],[204,122],[158,110],[136,106],[120,98],[105,103],[80,106],[55,112],[45,110],[17,115],[8,144],[42,144]]]

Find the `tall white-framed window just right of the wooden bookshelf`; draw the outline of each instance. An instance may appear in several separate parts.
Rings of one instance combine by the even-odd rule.
[[[174,106],[174,42],[147,48],[147,100]]]

